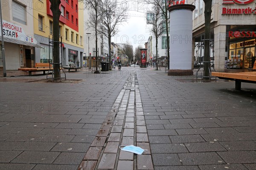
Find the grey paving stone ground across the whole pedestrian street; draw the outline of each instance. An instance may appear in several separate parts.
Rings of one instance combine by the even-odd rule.
[[[67,77],[79,81],[0,79],[0,169],[256,169],[254,84],[239,92],[153,68]]]

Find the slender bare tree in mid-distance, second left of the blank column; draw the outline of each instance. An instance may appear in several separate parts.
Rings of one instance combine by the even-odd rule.
[[[152,14],[154,17],[151,18],[150,24],[152,25],[151,32],[154,34],[154,37],[156,38],[156,66],[158,70],[158,51],[157,51],[157,44],[158,44],[158,38],[163,34],[163,31],[165,31],[165,28],[163,28],[163,19],[162,19],[162,13],[160,11],[160,7],[157,5],[153,6]]]

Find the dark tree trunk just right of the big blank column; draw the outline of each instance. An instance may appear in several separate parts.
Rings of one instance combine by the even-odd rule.
[[[205,10],[204,10],[204,82],[209,82],[209,58],[210,58],[210,24],[211,24],[211,14],[212,14],[212,0],[204,0]]]

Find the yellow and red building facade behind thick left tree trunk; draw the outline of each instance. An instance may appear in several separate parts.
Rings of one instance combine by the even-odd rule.
[[[82,66],[83,3],[78,0],[61,0],[60,10],[59,34],[62,37],[62,65],[77,63],[79,60],[79,66]],[[33,0],[33,18],[34,37],[43,47],[35,48],[35,62],[52,63],[52,44],[49,41],[52,41],[53,24],[49,0]]]

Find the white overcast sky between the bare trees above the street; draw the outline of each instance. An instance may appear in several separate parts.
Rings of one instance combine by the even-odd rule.
[[[145,18],[147,5],[135,0],[122,1],[122,4],[128,5],[128,21],[119,26],[119,32],[112,38],[112,42],[129,42],[133,45],[134,49],[138,45],[145,47],[144,44],[148,41],[148,37],[151,34]]]

